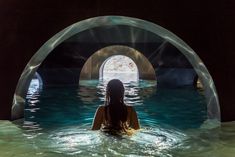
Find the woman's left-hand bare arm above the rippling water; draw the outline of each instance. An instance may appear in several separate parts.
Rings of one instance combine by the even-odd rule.
[[[104,107],[99,106],[96,110],[91,130],[99,130],[103,122]]]

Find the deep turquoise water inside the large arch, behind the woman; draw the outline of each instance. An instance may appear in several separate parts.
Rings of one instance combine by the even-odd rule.
[[[28,95],[25,120],[39,128],[90,126],[96,108],[104,104],[105,85],[85,82],[80,87],[44,89]],[[84,83],[83,83],[84,84]],[[125,102],[135,106],[143,127],[170,125],[177,129],[198,128],[207,119],[202,92],[193,87],[156,89],[153,82],[125,84]]]

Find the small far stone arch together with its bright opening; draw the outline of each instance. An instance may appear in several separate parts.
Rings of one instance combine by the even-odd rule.
[[[118,62],[114,63],[115,61]],[[140,79],[153,80],[156,82],[155,70],[150,61],[141,52],[129,46],[111,45],[99,49],[86,60],[80,72],[79,84],[81,84],[83,80],[102,81],[105,65],[106,70],[120,66],[120,68],[118,68],[119,73],[123,73],[122,71],[125,69],[129,70],[133,76],[133,79],[130,81],[136,82]],[[132,66],[132,68],[129,68],[130,66]],[[117,69],[115,72],[117,72]],[[124,73],[127,73],[127,71]]]

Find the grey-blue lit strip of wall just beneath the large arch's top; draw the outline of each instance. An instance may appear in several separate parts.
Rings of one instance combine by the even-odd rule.
[[[152,32],[126,25],[95,27],[78,33],[65,41],[87,43],[161,43],[163,39]]]

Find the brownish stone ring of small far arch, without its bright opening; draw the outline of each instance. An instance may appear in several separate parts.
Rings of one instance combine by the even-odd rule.
[[[80,80],[98,80],[102,75],[100,71],[102,64],[114,55],[124,55],[132,59],[137,65],[139,79],[156,80],[155,71],[148,59],[139,51],[121,45],[102,48],[90,56],[81,70]]]

